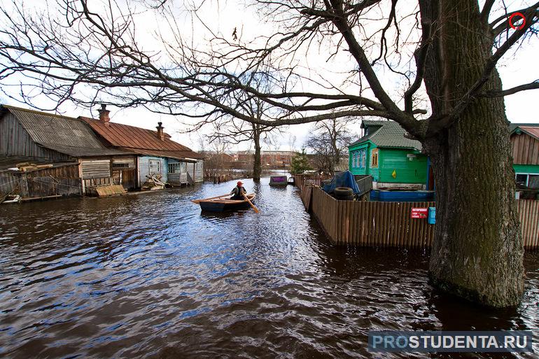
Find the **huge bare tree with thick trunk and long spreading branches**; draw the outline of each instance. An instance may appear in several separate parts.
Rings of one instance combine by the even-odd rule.
[[[151,52],[137,43],[136,9],[59,2],[58,16],[29,13],[18,2],[13,12],[2,9],[0,80],[20,83],[22,100],[31,103],[34,87],[57,104],[93,106],[99,99],[193,118],[227,113],[264,126],[347,116],[395,120],[421,141],[435,170],[433,283],[493,307],[521,299],[524,249],[503,97],[537,89],[539,80],[503,89],[496,64],[535,39],[539,3],[510,9],[502,0],[253,0],[274,31],[248,40],[241,31],[214,34],[195,47],[169,1],[150,1],[169,25],[164,50]],[[525,22],[508,22],[516,12]],[[309,55],[327,62],[310,69]],[[271,92],[260,92],[249,74],[267,63],[279,77]],[[331,66],[348,76],[325,76]],[[382,73],[405,90],[382,85]],[[422,93],[426,110],[418,106]],[[253,118],[235,106],[249,97],[279,111]]]

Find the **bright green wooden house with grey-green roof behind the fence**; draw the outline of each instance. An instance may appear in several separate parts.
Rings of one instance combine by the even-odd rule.
[[[391,120],[364,120],[361,128],[364,136],[348,146],[352,174],[370,174],[377,188],[428,187],[429,162],[419,141]]]

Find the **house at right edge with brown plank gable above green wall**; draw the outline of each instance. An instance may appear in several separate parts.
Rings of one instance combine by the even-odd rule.
[[[510,124],[517,185],[539,189],[539,124]]]

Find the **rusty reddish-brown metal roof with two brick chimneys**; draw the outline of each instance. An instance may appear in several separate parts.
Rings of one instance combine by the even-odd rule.
[[[112,146],[132,150],[143,155],[148,154],[148,151],[153,153],[158,151],[173,154],[171,156],[159,155],[160,157],[179,158],[178,156],[181,153],[184,153],[183,157],[204,157],[190,148],[172,141],[169,134],[165,134],[165,139],[161,140],[158,137],[158,132],[151,129],[122,125],[114,122],[103,122],[87,117],[80,117],[80,119],[87,122],[95,132],[111,143]]]

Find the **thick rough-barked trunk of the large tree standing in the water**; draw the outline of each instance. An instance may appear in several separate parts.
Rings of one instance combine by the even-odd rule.
[[[425,76],[433,114],[441,115],[481,78],[491,36],[479,21],[477,1],[442,0],[440,8],[435,1],[421,3],[423,20],[430,14],[442,24]],[[484,89],[501,88],[494,71]],[[472,100],[456,122],[423,146],[433,163],[437,196],[431,281],[487,306],[518,304],[524,246],[503,98]]]

